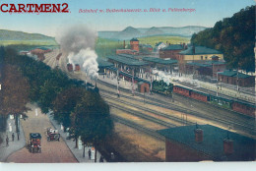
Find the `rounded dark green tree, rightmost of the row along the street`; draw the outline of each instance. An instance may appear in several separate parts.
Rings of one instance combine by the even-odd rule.
[[[84,142],[84,154],[86,143],[93,143],[96,148],[107,136],[112,135],[113,122],[109,114],[109,106],[99,94],[86,91],[75,107],[73,129]]]

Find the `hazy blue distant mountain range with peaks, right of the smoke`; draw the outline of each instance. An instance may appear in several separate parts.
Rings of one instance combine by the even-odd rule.
[[[197,33],[205,27],[188,26],[182,28],[162,27],[162,28],[133,28],[128,27],[121,31],[98,31],[98,36],[109,39],[131,39],[133,37],[147,37],[155,35],[172,35],[191,37],[193,33]]]

